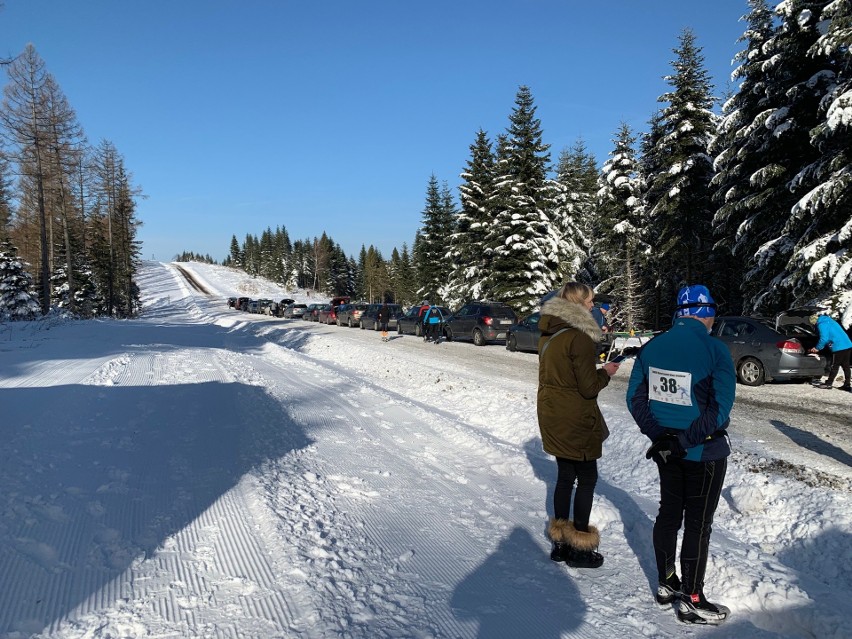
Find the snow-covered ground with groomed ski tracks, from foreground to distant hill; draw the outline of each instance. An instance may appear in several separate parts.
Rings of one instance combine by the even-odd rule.
[[[147,262],[141,318],[0,326],[0,637],[848,637],[852,394],[738,387],[706,591],[653,599],[657,478],[600,403],[600,570],[548,557],[534,354],[228,309]],[[709,635],[708,635],[709,636]]]

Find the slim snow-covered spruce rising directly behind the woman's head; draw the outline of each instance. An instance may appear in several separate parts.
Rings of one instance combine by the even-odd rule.
[[[597,161],[582,140],[559,154],[555,207],[550,216],[559,242],[556,286],[574,280],[591,286],[598,282],[592,255],[597,177]]]

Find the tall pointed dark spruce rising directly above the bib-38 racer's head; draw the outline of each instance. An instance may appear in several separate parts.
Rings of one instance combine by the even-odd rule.
[[[656,160],[661,166],[647,175],[652,182],[646,200],[655,236],[662,316],[671,317],[677,289],[684,283],[709,284],[712,289],[713,204],[710,180],[712,159],[708,145],[716,129],[716,116],[704,56],[689,29],[679,37],[666,77],[672,90],[658,98],[667,103],[660,120]]]

